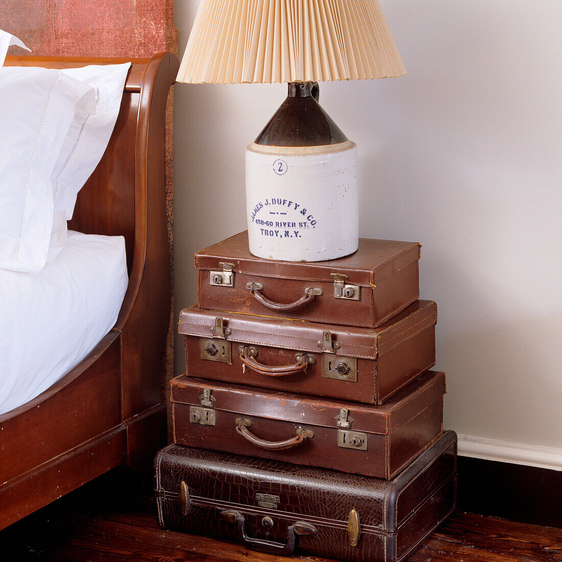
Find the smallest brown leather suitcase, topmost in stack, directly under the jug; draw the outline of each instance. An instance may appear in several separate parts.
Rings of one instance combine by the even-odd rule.
[[[196,253],[199,306],[374,328],[419,298],[419,257],[419,243],[360,238],[337,260],[264,260],[246,231]]]

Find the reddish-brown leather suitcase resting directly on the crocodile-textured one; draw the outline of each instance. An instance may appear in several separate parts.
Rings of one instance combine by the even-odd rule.
[[[442,433],[445,373],[427,371],[382,406],[182,375],[174,443],[393,478]]]

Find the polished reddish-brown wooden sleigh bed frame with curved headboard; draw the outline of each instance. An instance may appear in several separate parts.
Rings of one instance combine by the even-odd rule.
[[[164,121],[178,59],[21,56],[5,64],[61,69],[128,61],[114,132],[69,228],[123,235],[129,285],[115,327],[88,357],[34,400],[0,415],[0,529],[117,465],[151,466],[166,443],[160,356],[171,297]]]

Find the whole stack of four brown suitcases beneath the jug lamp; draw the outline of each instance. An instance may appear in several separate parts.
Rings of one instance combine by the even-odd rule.
[[[451,513],[437,306],[420,244],[360,239],[323,262],[263,260],[247,233],[198,252],[180,313],[174,445],[156,457],[162,527],[251,549],[396,561]]]

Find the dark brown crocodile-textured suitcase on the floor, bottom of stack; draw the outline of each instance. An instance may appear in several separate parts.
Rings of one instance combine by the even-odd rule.
[[[277,555],[397,562],[455,507],[456,434],[392,481],[176,445],[155,469],[166,529]]]

